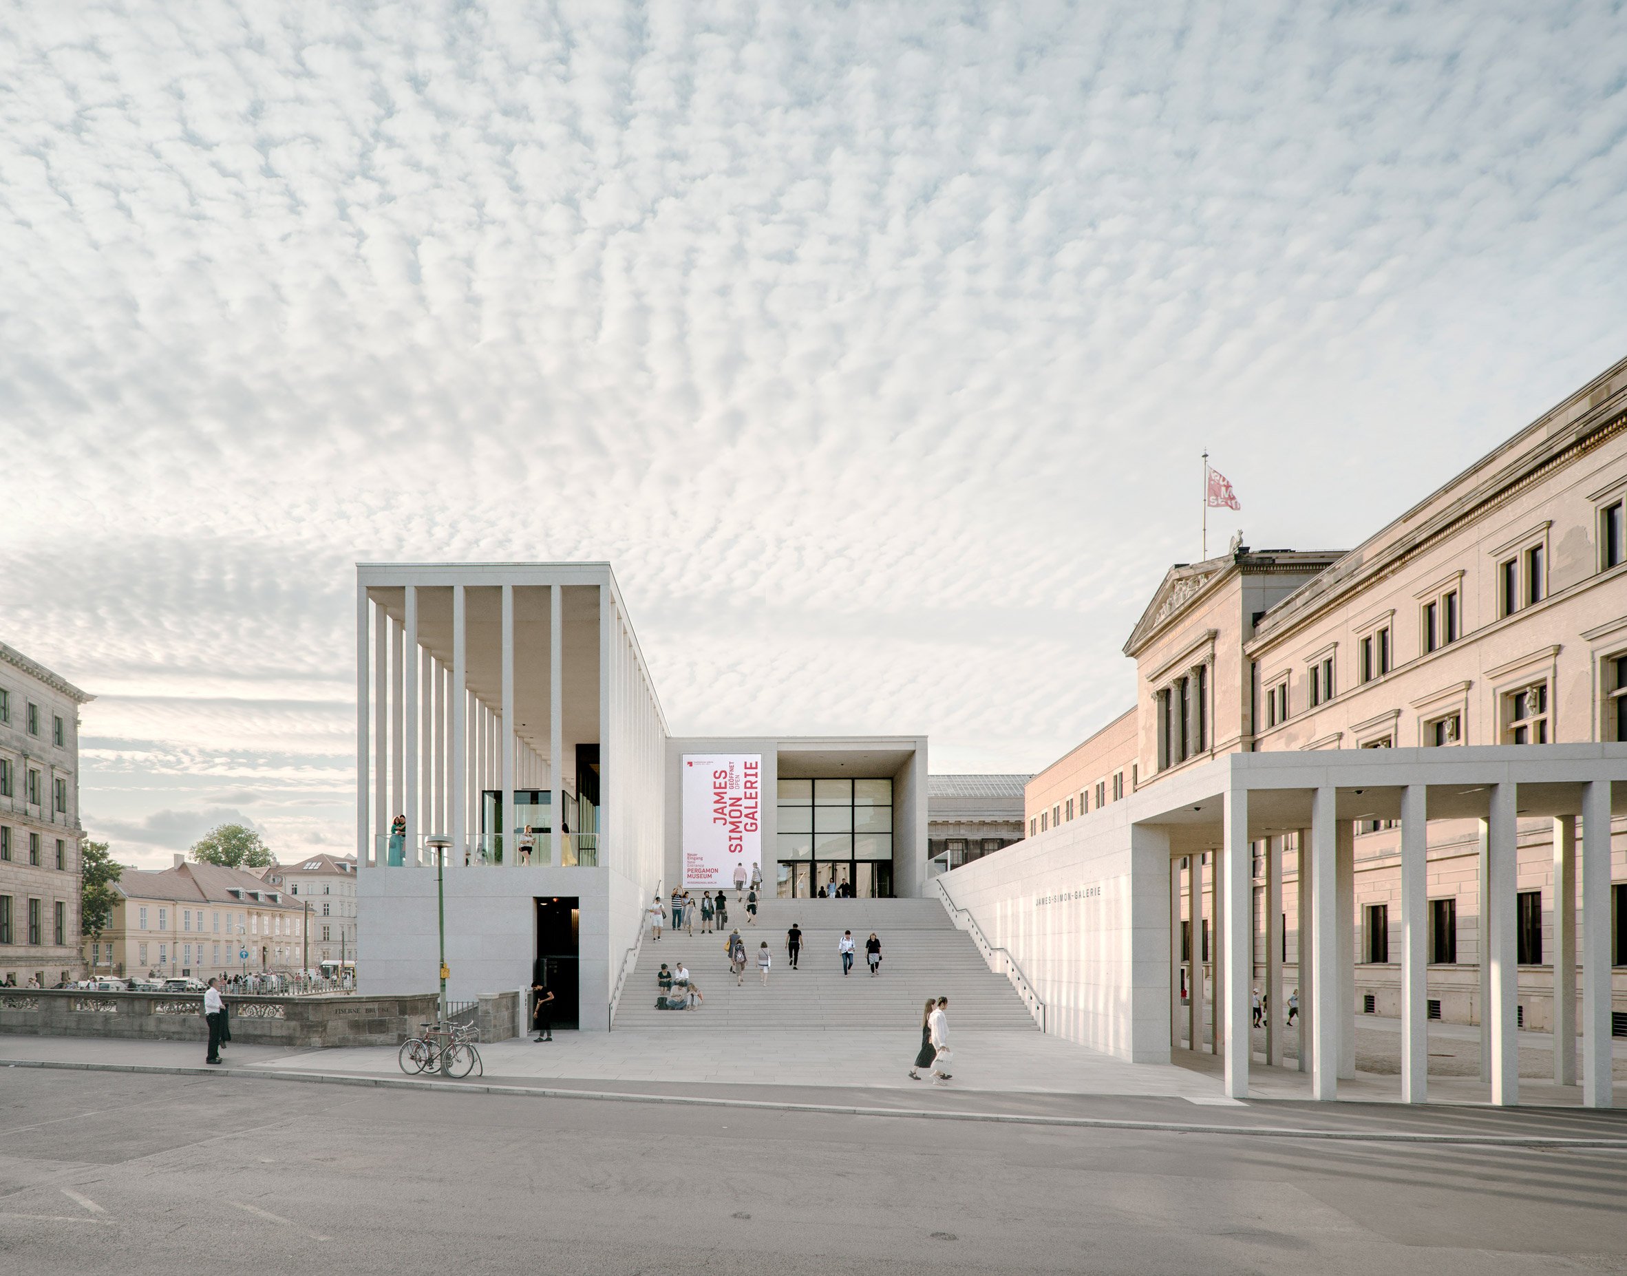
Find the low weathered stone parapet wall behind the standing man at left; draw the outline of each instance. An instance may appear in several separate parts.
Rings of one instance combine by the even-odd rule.
[[[434,1019],[434,993],[361,998],[228,996],[231,1038],[298,1050],[399,1045]],[[509,1016],[513,1020],[513,1014]],[[202,994],[7,990],[0,993],[0,1035],[127,1037],[146,1042],[203,1042]],[[509,1033],[513,1035],[513,1032]]]

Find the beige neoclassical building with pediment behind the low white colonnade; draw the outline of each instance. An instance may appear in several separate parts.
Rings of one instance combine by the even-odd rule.
[[[1212,817],[1206,833],[1171,835],[1176,851],[1197,850],[1175,854],[1171,884],[1158,889],[1171,900],[1165,926],[1171,975],[1163,986],[1173,1009],[1165,1040],[1175,1048],[1197,1040],[1219,1050],[1225,1014],[1206,1016],[1202,1001],[1214,998],[1214,959],[1224,962],[1228,944],[1251,950],[1251,962],[1245,978],[1225,972],[1222,996],[1212,1003],[1222,1011],[1227,996],[1241,990],[1246,998],[1250,985],[1277,1004],[1305,985],[1308,1001],[1313,980],[1305,913],[1311,887],[1300,881],[1313,840],[1311,801],[1292,812],[1284,807],[1272,824],[1261,814],[1271,804],[1251,786],[1285,793],[1289,776],[1298,775],[1293,784],[1319,793],[1318,784],[1334,783],[1328,776],[1344,776],[1334,784],[1337,819],[1328,824],[1337,843],[1328,921],[1339,931],[1341,1003],[1354,1012],[1394,1016],[1409,988],[1398,817],[1406,781],[1417,776],[1420,793],[1429,793],[1427,814],[1414,809],[1412,822],[1419,837],[1427,825],[1419,843],[1424,876],[1409,902],[1417,908],[1409,931],[1419,957],[1417,1014],[1481,1024],[1489,1056],[1495,1055],[1490,1032],[1500,999],[1508,999],[1511,1027],[1557,1029],[1568,1038],[1577,1024],[1578,942],[1591,942],[1594,962],[1607,952],[1616,967],[1614,998],[1599,981],[1590,993],[1594,1009],[1607,1016],[1614,999],[1619,1016],[1627,1011],[1627,972],[1620,970],[1627,928],[1616,920],[1627,905],[1627,840],[1619,819],[1627,796],[1620,763],[1627,752],[1619,747],[1627,742],[1624,513],[1627,361],[1355,548],[1233,545],[1207,562],[1171,566],[1124,645],[1136,661],[1136,705],[1027,786],[1028,841],[1004,856],[1032,856],[1033,872],[1025,876],[1017,859],[1004,871],[991,861],[939,881],[962,897],[957,903],[975,900],[994,910],[984,924],[992,942],[1010,942],[1012,952],[1027,946],[1045,968],[1051,949],[1025,937],[1027,923],[1019,920],[1032,921],[1023,910],[1036,907],[1027,892],[1051,902],[1035,882],[1067,854],[1046,859],[1049,851],[1084,848],[1121,802],[1134,811],[1118,819],[1149,832]],[[1393,765],[1372,750],[1394,750]],[[1438,768],[1427,750],[1458,750],[1442,752],[1440,760],[1459,758],[1463,767]],[[1219,765],[1245,754],[1295,755],[1308,767],[1324,758],[1326,767]],[[1375,765],[1363,770],[1363,758]],[[1461,789],[1437,793],[1435,781],[1424,778],[1468,775],[1466,768],[1477,780]],[[1510,768],[1524,778],[1515,780]],[[1259,778],[1267,775],[1276,778]],[[1323,780],[1303,780],[1311,775]],[[1372,786],[1362,775],[1373,776]],[[1243,804],[1245,793],[1253,794],[1248,809],[1254,814],[1246,824],[1225,825],[1219,807],[1204,814],[1197,799],[1178,817],[1176,789],[1188,783],[1197,793],[1210,783],[1197,776],[1220,776],[1212,783]],[[1614,784],[1617,819],[1603,843],[1598,820],[1590,835],[1590,845],[1609,854],[1607,879],[1593,864],[1590,894],[1578,885],[1575,848],[1581,793],[1593,781],[1604,784],[1590,789],[1593,798],[1606,802],[1594,811],[1609,809]],[[1168,802],[1158,798],[1165,789]],[[1503,799],[1515,806],[1498,825]],[[1331,793],[1326,801],[1334,801]],[[1090,828],[1074,835],[1080,820]],[[1215,877],[1222,887],[1227,879],[1215,863],[1227,838],[1245,833],[1251,867],[1240,877],[1248,895],[1238,898],[1251,905],[1253,920],[1248,934],[1227,937],[1228,905]],[[1505,871],[1507,881],[1498,877]],[[1495,903],[1500,894],[1508,895],[1507,910]],[[1505,929],[1510,950],[1500,955]],[[1092,1033],[1100,1038],[1097,1027],[1074,1035],[1092,1040]],[[1157,1055],[1157,1045],[1147,1050]],[[1347,1035],[1339,1050],[1354,1068]],[[1280,1042],[1267,1053],[1280,1058]],[[1308,1053],[1306,1042],[1302,1056]],[[1555,1074],[1575,1079],[1567,1045],[1555,1051]]]

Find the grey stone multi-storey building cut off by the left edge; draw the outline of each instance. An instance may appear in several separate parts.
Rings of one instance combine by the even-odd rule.
[[[80,975],[80,705],[93,697],[0,643],[0,980]]]

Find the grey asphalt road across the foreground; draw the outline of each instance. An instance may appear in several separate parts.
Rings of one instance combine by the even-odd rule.
[[[229,1076],[8,1069],[0,1095],[0,1271],[31,1276],[1627,1271],[1620,1151]]]

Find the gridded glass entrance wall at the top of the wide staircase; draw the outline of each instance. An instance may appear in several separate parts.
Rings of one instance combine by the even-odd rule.
[[[893,894],[893,781],[781,780],[776,892]]]

